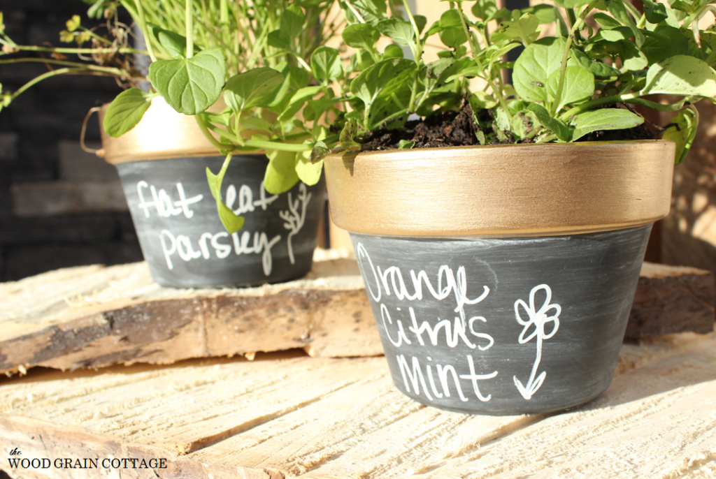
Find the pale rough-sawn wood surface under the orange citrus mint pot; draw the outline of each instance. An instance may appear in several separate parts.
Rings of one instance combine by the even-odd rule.
[[[150,458],[122,478],[712,478],[716,335],[624,345],[611,387],[579,408],[490,417],[425,407],[382,357],[275,354],[0,380],[0,468],[26,458]],[[156,476],[155,476],[156,473]],[[72,475],[74,474],[74,475]]]

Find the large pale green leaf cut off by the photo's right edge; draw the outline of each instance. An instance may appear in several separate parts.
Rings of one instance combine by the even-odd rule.
[[[716,97],[716,71],[705,61],[688,55],[672,56],[649,66],[646,94]]]

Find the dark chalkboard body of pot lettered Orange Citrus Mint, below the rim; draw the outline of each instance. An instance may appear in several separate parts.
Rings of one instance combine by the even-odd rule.
[[[393,382],[420,403],[467,413],[591,400],[614,375],[650,230],[352,234]]]

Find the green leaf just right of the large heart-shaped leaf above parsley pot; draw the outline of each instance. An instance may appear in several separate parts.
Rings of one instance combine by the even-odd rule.
[[[284,81],[284,75],[261,66],[232,76],[226,82],[224,100],[234,112],[252,107],[268,107],[271,93]]]

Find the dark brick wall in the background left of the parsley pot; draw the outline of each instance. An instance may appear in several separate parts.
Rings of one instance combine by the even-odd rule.
[[[19,44],[59,46],[59,31],[73,14],[90,24],[87,4],[79,0],[0,0],[0,11],[6,32]],[[0,83],[14,91],[44,71],[42,64],[2,65]],[[77,194],[97,184],[119,187],[113,168],[97,165],[96,172],[87,173],[81,166],[87,154],[72,146],[79,142],[89,109],[120,91],[112,78],[58,76],[37,84],[0,112],[0,281],[59,267],[142,260],[126,204],[57,211],[54,200],[43,194],[45,189]],[[99,139],[94,117],[87,140],[97,144]],[[80,169],[84,174],[77,174]],[[34,196],[21,196],[26,192]]]

